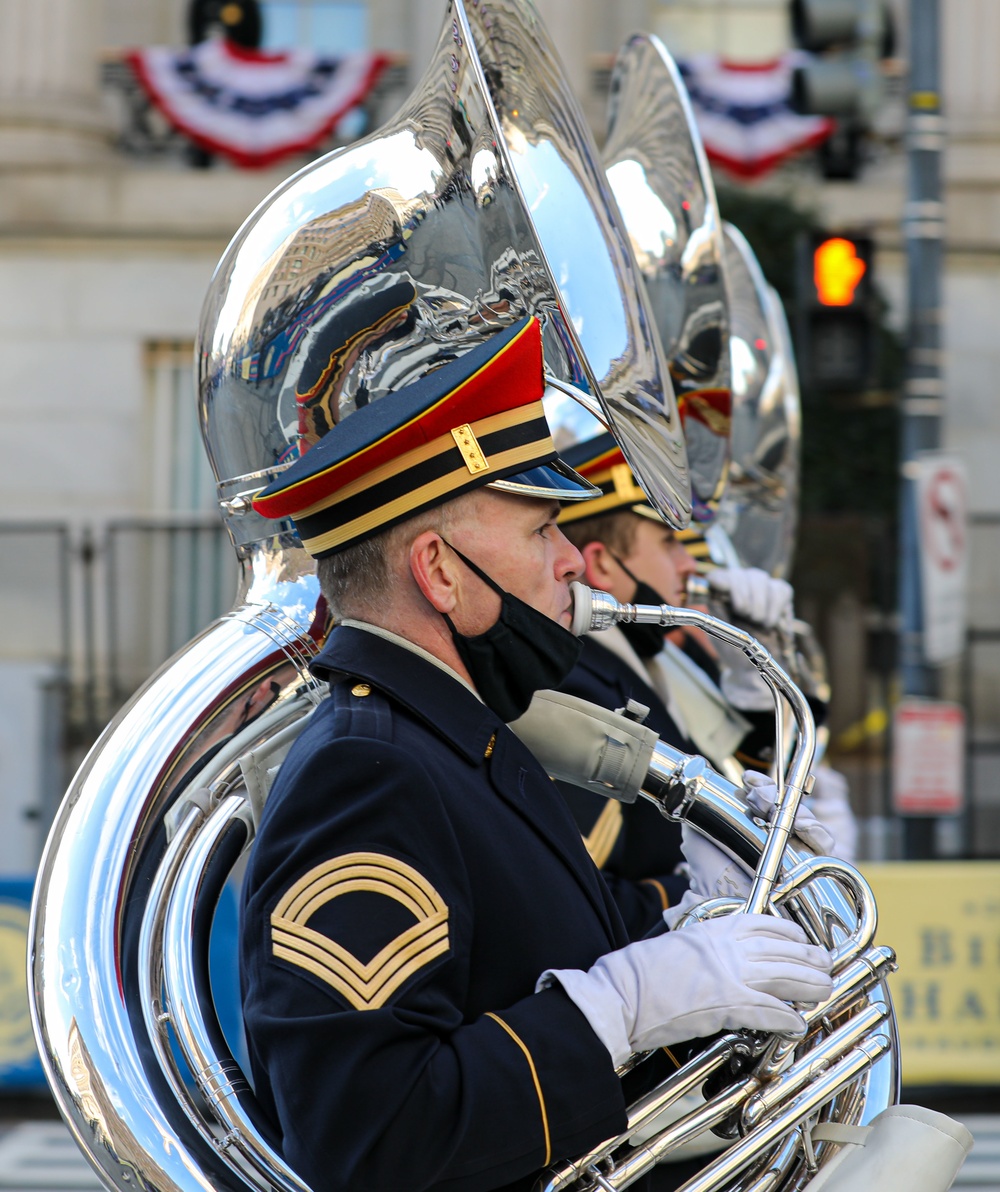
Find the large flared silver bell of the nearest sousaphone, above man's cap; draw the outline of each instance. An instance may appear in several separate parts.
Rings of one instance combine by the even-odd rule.
[[[200,391],[237,542],[263,536],[249,495],[341,417],[524,313],[542,323],[553,383],[614,427],[685,524],[683,433],[636,292],[534,10],[455,0],[391,124],[279,187],[212,281]]]

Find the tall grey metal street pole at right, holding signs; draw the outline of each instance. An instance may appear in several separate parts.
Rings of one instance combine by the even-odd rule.
[[[938,672],[924,657],[920,600],[919,511],[914,461],[940,447],[942,256],[944,201],[940,157],[944,118],[940,110],[939,0],[909,0],[909,187],[903,210],[908,275],[906,390],[902,401],[900,503],[900,677],[905,696],[936,696]],[[903,855],[931,857],[934,820],[903,819]]]

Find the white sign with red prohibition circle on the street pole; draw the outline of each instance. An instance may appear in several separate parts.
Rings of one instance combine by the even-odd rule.
[[[920,534],[924,658],[943,663],[961,654],[965,644],[965,466],[954,455],[926,452],[912,467]]]

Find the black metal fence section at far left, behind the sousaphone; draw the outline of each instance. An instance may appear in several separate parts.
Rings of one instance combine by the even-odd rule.
[[[125,700],[231,608],[237,582],[217,519],[0,522],[0,685],[8,721],[45,726],[39,814]]]

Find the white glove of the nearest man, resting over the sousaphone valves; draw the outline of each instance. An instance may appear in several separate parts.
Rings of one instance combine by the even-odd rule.
[[[802,1016],[785,1002],[828,998],[830,968],[797,924],[729,914],[608,952],[586,973],[545,973],[540,985],[563,986],[617,1067],[633,1051],[721,1030],[802,1036]]]

